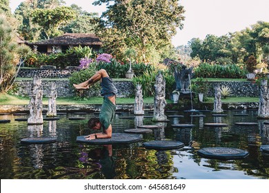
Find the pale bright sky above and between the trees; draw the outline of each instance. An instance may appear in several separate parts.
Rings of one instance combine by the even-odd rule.
[[[98,12],[99,16],[106,10],[106,5],[92,6],[94,0],[65,0],[66,5],[77,4],[88,12]],[[14,12],[22,0],[10,0]],[[205,39],[207,34],[221,36],[237,32],[257,21],[269,22],[269,0],[179,0],[186,12],[183,30],[177,30],[172,44],[187,45],[192,38]]]

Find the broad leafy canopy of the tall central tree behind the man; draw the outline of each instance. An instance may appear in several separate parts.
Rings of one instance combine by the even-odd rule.
[[[103,12],[98,30],[105,45],[113,50],[123,47],[134,47],[137,53],[146,61],[152,52],[171,44],[171,38],[177,28],[183,25],[183,6],[176,0],[98,0],[95,5],[110,3],[108,10]],[[124,39],[121,48],[114,47],[115,39],[110,39],[111,31],[118,32]],[[116,39],[117,41],[117,39]],[[151,52],[151,53],[150,53]]]

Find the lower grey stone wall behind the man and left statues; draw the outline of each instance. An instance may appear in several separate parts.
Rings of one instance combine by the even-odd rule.
[[[50,93],[51,84],[54,80],[42,80],[43,96],[48,97]],[[28,96],[32,88],[32,81],[16,81],[17,92],[19,96]],[[134,94],[135,87],[132,81],[114,81],[114,85],[118,90],[117,97],[130,97]],[[58,97],[72,97],[75,96],[73,88],[69,85],[68,80],[57,80],[56,89]],[[88,90],[88,96],[101,96],[100,90]]]

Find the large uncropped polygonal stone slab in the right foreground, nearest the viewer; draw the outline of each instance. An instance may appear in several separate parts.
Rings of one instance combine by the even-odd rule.
[[[203,148],[197,153],[208,159],[222,160],[243,159],[248,156],[247,151],[236,148]]]

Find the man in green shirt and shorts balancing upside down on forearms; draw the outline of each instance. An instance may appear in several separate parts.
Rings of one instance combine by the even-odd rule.
[[[101,81],[101,95],[103,96],[103,104],[99,118],[91,118],[88,121],[88,127],[92,130],[103,130],[103,132],[89,134],[86,140],[99,139],[99,138],[111,138],[112,136],[112,125],[111,121],[114,118],[116,110],[116,94],[117,88],[115,88],[112,79],[108,76],[106,70],[101,69],[96,72],[88,81],[74,84],[74,88],[77,90],[88,89],[90,85],[93,85],[97,81]]]

